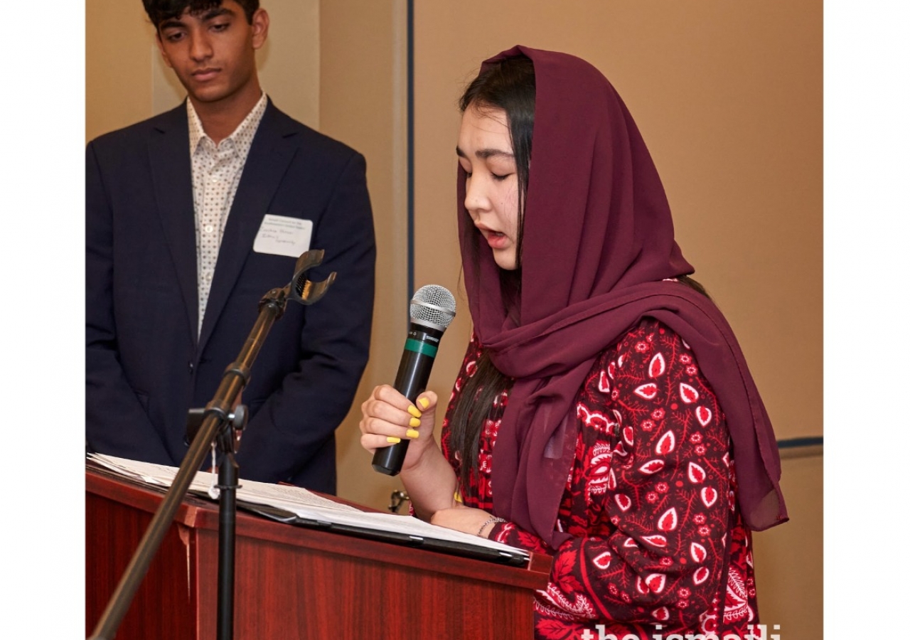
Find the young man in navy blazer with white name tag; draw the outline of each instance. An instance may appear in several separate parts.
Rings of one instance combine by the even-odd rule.
[[[334,432],[366,365],[376,257],[364,158],[278,111],[259,86],[258,0],[143,0],[187,90],[86,148],[86,442],[173,466],[258,317],[323,249],[243,391],[240,477],[335,492]]]

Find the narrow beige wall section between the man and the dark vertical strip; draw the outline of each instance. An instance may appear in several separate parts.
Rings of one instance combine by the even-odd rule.
[[[394,381],[407,330],[406,18],[404,0],[322,3],[321,130],[367,157],[377,246],[369,365],[338,432],[339,495],[378,509],[402,486],[372,470],[358,422],[360,402]]]

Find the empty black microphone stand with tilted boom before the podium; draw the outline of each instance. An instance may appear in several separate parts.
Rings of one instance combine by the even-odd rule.
[[[273,289],[259,300],[259,316],[250,331],[247,341],[240,350],[237,361],[227,367],[218,385],[214,398],[208,402],[202,423],[180,462],[174,482],[165,494],[152,517],[145,535],[139,542],[133,558],[117,584],[114,594],[107,603],[90,640],[113,640],[116,629],[133,601],[139,584],[145,578],[148,566],[155,557],[158,547],[174,520],[177,508],[183,501],[187,489],[196,476],[207,450],[215,442],[224,454],[218,465],[218,612],[217,638],[230,640],[234,635],[234,543],[237,522],[238,464],[235,452],[239,434],[246,423],[246,410],[238,406],[231,413],[240,392],[249,381],[249,372],[258,356],[263,342],[275,320],[278,320],[288,300],[301,304],[313,304],[335,281],[335,272],[321,282],[312,282],[305,277],[307,269],[322,262],[322,249],[305,252],[297,260],[294,278],[282,289]]]

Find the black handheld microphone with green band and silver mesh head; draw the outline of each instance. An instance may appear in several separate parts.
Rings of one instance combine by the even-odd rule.
[[[430,369],[436,359],[440,338],[455,317],[455,298],[450,290],[436,284],[420,287],[410,300],[410,327],[404,343],[395,389],[411,402],[427,389]],[[373,469],[398,475],[410,440],[377,449]]]

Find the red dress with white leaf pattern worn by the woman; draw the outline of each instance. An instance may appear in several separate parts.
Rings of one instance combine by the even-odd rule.
[[[441,432],[480,345],[471,339]],[[480,473],[465,504],[492,513],[490,472],[505,393],[480,435]],[[692,350],[646,318],[604,350],[579,392],[575,463],[558,517],[574,537],[553,550],[514,523],[490,538],[553,556],[550,584],[536,595],[535,637],[640,638],[653,633],[719,637],[757,624],[751,536],[735,499],[730,436]],[[657,626],[660,625],[660,626]]]

